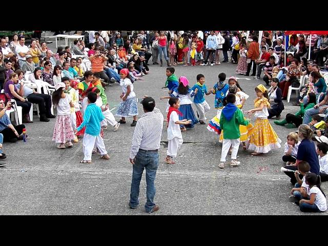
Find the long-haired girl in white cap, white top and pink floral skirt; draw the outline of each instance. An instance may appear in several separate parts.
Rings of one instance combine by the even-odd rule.
[[[52,140],[58,145],[58,149],[65,149],[73,146],[71,140],[75,139],[71,122],[71,107],[74,107],[72,97],[64,92],[65,84],[59,82],[55,85],[55,91],[52,94],[52,103],[57,107],[57,118]]]

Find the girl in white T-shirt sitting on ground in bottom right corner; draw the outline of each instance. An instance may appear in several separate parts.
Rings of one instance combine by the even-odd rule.
[[[327,210],[326,195],[320,187],[320,176],[315,173],[306,173],[305,183],[309,185],[308,195],[310,199],[301,199],[299,209],[302,212],[324,212]],[[296,203],[296,202],[295,202]]]

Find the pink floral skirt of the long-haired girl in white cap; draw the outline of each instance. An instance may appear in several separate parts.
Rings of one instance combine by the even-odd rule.
[[[68,115],[58,115],[56,118],[55,129],[53,131],[52,140],[56,143],[61,144],[75,138],[72,124],[71,116]]]

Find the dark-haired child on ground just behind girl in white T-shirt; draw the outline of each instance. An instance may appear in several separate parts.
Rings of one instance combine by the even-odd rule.
[[[306,189],[308,189],[309,186],[305,183],[305,174],[310,172],[310,165],[306,161],[300,161],[297,168],[298,170],[294,173],[297,182],[291,191],[292,195],[289,196],[290,201],[299,201],[300,199],[308,197]],[[301,175],[302,179],[300,179],[299,175]]]

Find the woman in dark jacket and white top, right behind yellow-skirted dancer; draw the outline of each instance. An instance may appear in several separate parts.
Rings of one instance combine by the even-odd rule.
[[[271,108],[268,109],[268,119],[271,119],[273,116],[280,118],[280,114],[282,110],[284,110],[284,106],[281,100],[281,94],[281,89],[278,87],[278,79],[273,78],[271,80],[271,87],[269,88],[269,101],[272,105]]]

